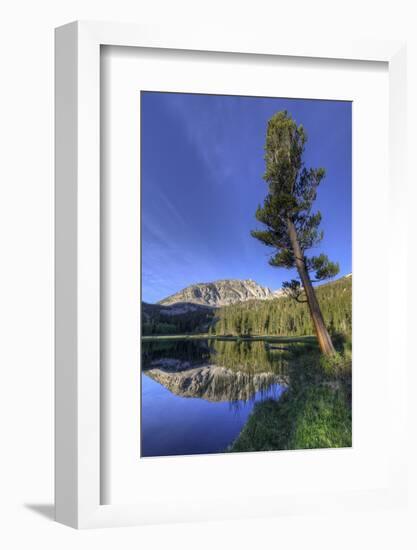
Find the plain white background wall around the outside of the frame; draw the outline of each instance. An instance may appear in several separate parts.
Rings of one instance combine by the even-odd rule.
[[[0,385],[1,513],[4,548],[415,548],[415,472],[408,510],[280,517],[231,523],[76,532],[54,524],[53,499],[53,28],[74,19],[255,27],[262,32],[409,40],[409,151],[417,151],[417,39],[413,2],[199,2],[38,0],[9,2],[1,18]],[[267,28],[265,28],[267,25]],[[409,166],[413,168],[410,154]],[[410,170],[411,173],[411,170]],[[410,178],[411,181],[411,178]],[[417,184],[414,183],[417,187]],[[411,195],[410,232],[415,235]],[[411,242],[415,242],[411,239]],[[414,250],[410,251],[413,261]],[[376,269],[386,269],[382,258]],[[394,258],[395,261],[395,258]],[[414,260],[415,261],[415,260]],[[410,265],[410,283],[411,283]],[[403,285],[404,281],[399,281]],[[410,284],[411,288],[411,284]],[[383,300],[383,296],[381,297]],[[410,292],[410,304],[415,296]],[[411,307],[410,307],[411,309]],[[383,308],[381,309],[383,314]],[[412,317],[410,316],[410,321]],[[411,327],[410,327],[411,329]],[[411,332],[410,332],[411,334]],[[410,365],[410,461],[416,375]],[[395,386],[395,365],[393,386]],[[395,441],[387,442],[395,444]],[[412,454],[411,454],[412,453]],[[411,462],[413,463],[413,462]],[[343,475],[343,473],[341,473]],[[42,512],[42,513],[40,513]]]

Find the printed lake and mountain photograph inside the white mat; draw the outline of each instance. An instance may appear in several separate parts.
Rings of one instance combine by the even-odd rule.
[[[352,102],[140,94],[140,458],[352,446]]]

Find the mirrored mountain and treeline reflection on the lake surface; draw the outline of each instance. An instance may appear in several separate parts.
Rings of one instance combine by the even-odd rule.
[[[289,385],[288,365],[297,347],[264,341],[165,340],[142,343],[144,374],[175,395],[208,401],[250,401],[262,392],[278,397]],[[272,348],[272,349],[271,349]],[[271,389],[281,386],[277,395]]]

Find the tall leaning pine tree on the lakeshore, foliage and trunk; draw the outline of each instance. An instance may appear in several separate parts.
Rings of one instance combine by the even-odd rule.
[[[323,231],[319,230],[321,214],[312,213],[312,206],[325,175],[323,168],[304,165],[306,141],[304,128],[297,126],[287,111],[276,113],[269,120],[264,174],[269,192],[263,207],[259,206],[256,211],[256,219],[266,229],[251,234],[275,249],[270,265],[297,269],[299,279],[283,283],[283,289],[298,302],[308,304],[320,349],[323,354],[331,355],[335,350],[312,282],[334,277],[339,265],[325,254],[306,256],[306,251],[323,239]]]

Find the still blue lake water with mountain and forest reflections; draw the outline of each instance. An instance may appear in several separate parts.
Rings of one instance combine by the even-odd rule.
[[[266,341],[142,341],[141,456],[226,451],[254,405],[287,390],[289,353]]]

